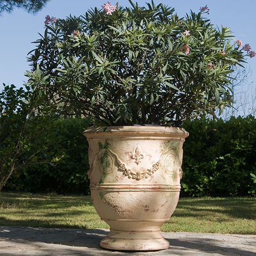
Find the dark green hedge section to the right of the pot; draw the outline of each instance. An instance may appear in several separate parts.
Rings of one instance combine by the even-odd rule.
[[[183,196],[256,195],[256,118],[184,124]],[[254,179],[254,180],[253,180]]]

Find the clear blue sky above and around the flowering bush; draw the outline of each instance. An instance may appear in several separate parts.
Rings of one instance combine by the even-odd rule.
[[[39,38],[38,32],[44,31],[45,16],[64,18],[71,15],[84,14],[91,7],[99,7],[105,0],[51,0],[44,9],[33,15],[25,10],[15,9],[13,13],[4,13],[0,16],[0,89],[3,83],[22,86],[26,81],[25,71],[29,69],[27,53],[34,48],[31,44]],[[140,5],[150,1],[137,1]],[[112,4],[116,1],[111,1]],[[118,1],[119,5],[130,6],[128,0]],[[249,43],[256,51],[256,1],[255,0],[155,0],[155,3],[164,3],[176,9],[179,16],[184,16],[191,10],[198,11],[200,7],[208,5],[210,14],[207,15],[217,26],[227,26],[234,32],[236,39],[243,44]],[[249,83],[256,84],[256,57],[247,59],[247,66],[252,69]]]

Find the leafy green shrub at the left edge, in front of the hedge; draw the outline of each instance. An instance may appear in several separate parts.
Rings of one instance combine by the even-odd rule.
[[[39,115],[34,108],[29,87],[4,84],[0,92],[0,191],[15,172],[26,173],[29,166],[42,168],[63,156],[52,139],[53,117]]]

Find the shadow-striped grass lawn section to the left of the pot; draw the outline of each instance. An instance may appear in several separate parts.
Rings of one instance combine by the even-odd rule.
[[[99,218],[88,196],[2,193],[1,198],[0,225],[88,228]]]

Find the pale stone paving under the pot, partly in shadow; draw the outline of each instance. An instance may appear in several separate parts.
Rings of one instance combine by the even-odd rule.
[[[107,229],[59,229],[0,226],[0,256],[69,255],[245,255],[256,256],[256,235],[162,233],[170,247],[157,252],[114,252],[102,249]]]

